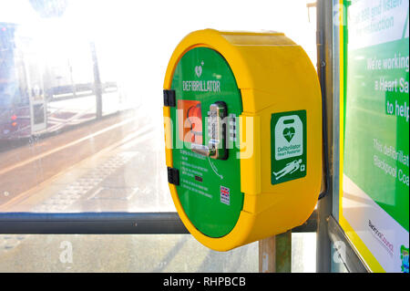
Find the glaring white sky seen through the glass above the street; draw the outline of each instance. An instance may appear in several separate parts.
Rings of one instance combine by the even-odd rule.
[[[316,63],[315,11],[309,22],[306,7],[312,0],[67,1],[64,16],[42,19],[28,0],[2,0],[0,22],[25,26],[45,44],[65,41],[67,49],[95,41],[102,74],[117,78],[136,102],[155,103],[151,97],[161,96],[169,57],[198,29],[283,32]]]

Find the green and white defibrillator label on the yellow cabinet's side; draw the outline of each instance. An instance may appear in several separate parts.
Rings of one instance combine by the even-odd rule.
[[[306,176],[306,110],[273,113],[272,184]]]

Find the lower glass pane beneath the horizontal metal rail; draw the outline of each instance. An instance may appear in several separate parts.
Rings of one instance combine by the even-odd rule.
[[[315,272],[315,235],[292,234],[292,272]],[[258,257],[257,242],[215,252],[188,234],[0,234],[0,272],[253,273]]]

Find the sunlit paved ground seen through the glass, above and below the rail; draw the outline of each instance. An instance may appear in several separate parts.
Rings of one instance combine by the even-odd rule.
[[[140,109],[113,116],[0,153],[0,212],[175,212],[162,125],[144,114]],[[292,234],[292,271],[314,271],[311,236]],[[190,234],[0,234],[0,272],[222,273],[258,267],[257,242],[220,253]]]

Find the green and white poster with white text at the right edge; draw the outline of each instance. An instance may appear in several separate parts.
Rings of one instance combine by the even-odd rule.
[[[352,1],[344,37],[343,218],[387,272],[408,272],[408,4]]]

